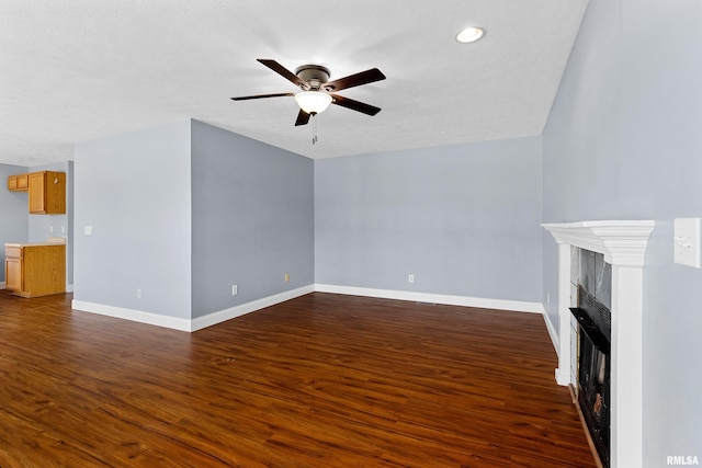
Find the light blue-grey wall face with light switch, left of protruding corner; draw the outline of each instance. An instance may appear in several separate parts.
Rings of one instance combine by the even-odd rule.
[[[190,125],[76,145],[76,300],[191,318]]]

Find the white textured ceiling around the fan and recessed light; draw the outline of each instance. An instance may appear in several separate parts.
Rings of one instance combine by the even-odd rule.
[[[2,0],[0,162],[72,158],[75,142],[196,118],[310,158],[541,134],[587,0]],[[466,25],[486,30],[455,42]],[[331,79],[377,67],[295,127],[294,92],[256,61]]]

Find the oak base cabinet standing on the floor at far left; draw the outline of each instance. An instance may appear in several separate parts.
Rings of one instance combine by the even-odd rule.
[[[66,292],[65,243],[7,243],[5,289],[22,297]]]

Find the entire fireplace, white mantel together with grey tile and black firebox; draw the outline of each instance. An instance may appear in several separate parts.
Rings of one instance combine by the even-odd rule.
[[[609,438],[609,453],[605,454],[609,465],[612,468],[643,466],[643,267],[655,222],[605,220],[547,224],[543,227],[558,244],[558,332],[554,336],[558,353],[556,381],[578,388],[581,385],[578,359],[582,356],[585,361],[580,366],[588,374],[584,387],[589,387],[579,391],[578,398],[587,398],[580,402],[580,407],[589,406],[592,410],[590,418],[604,427],[596,435]],[[574,251],[578,249],[574,248],[601,254],[604,263],[610,265],[605,274],[611,281],[602,282],[609,283],[609,290],[600,294],[600,297],[595,295],[597,301],[603,303],[604,308],[611,311],[609,355],[602,351],[607,350],[607,345],[598,343],[598,347],[590,334],[586,333],[586,326],[580,326],[577,315],[585,313],[570,310],[582,309],[581,297],[587,297],[578,293],[577,286],[573,286],[573,276],[581,271],[581,265],[575,264],[578,256],[574,255]],[[587,282],[597,283],[597,272],[587,276]],[[600,300],[601,297],[604,300]],[[553,329],[548,315],[546,319]],[[607,336],[607,333],[602,334]],[[585,343],[584,351],[578,354],[581,342]],[[605,386],[608,380],[609,389]],[[587,418],[584,414],[584,420]],[[603,419],[609,419],[609,425]]]

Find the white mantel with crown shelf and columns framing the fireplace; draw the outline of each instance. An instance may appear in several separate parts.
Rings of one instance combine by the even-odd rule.
[[[653,220],[542,225],[558,243],[559,385],[573,381],[570,248],[602,253],[612,265],[611,427],[612,468],[643,466],[642,309],[643,267]]]

